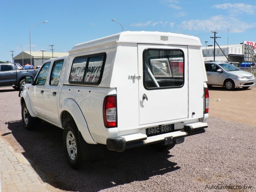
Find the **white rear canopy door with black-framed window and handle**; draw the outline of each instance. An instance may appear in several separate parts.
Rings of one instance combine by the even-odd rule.
[[[188,47],[138,44],[140,125],[188,118]]]

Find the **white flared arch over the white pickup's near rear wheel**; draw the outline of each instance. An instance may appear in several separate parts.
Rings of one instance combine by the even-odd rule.
[[[89,132],[84,115],[83,115],[81,109],[79,108],[79,106],[77,105],[76,101],[72,100],[72,99],[66,99],[63,101],[62,105],[60,106],[61,127],[63,127],[61,116],[64,111],[67,111],[73,117],[73,119],[76,123],[76,126],[77,126],[79,132],[81,132],[81,135],[83,136],[84,140],[89,144],[97,144],[92,139],[92,135]]]

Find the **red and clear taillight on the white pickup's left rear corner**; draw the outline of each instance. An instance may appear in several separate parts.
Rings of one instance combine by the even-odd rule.
[[[116,95],[105,97],[103,102],[103,118],[105,127],[117,126]]]

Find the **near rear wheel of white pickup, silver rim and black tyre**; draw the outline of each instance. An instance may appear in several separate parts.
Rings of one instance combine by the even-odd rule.
[[[63,143],[65,156],[70,166],[79,169],[83,166],[83,156],[81,153],[80,140],[76,124],[69,121],[64,126]]]

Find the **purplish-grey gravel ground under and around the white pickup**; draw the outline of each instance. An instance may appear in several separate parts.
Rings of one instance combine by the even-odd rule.
[[[185,138],[170,151],[158,153],[148,146],[123,153],[106,150],[103,161],[76,171],[64,157],[61,129],[42,122],[27,131],[21,122],[18,92],[0,88],[0,100],[1,137],[56,189],[243,191],[246,185],[252,188],[245,191],[256,191],[256,127],[210,117],[205,133]],[[208,189],[217,185],[242,189]]]

